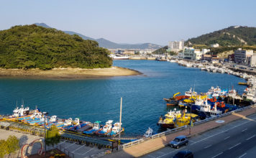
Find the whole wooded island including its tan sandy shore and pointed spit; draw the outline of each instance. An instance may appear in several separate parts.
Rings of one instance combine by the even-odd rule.
[[[98,42],[35,24],[0,31],[0,77],[84,79],[140,75],[112,67]]]

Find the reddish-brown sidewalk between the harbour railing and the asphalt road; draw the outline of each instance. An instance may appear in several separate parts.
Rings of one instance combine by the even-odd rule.
[[[205,131],[209,131],[211,129],[215,129],[219,126],[223,126],[225,124],[229,124],[232,121],[235,121],[237,119],[247,119],[246,116],[250,116],[253,113],[256,113],[256,108],[249,108],[244,111],[240,111],[238,113],[233,113],[229,116],[224,116],[220,119],[216,119],[214,121],[209,121],[204,124],[199,124],[197,126],[193,126],[191,128],[191,134],[189,135],[189,129],[178,131],[173,134],[169,134],[168,136],[161,136],[157,139],[150,139],[148,141],[144,141],[142,144],[137,144],[132,147],[129,147],[127,149],[124,149],[120,152],[112,153],[109,155],[106,155],[104,157],[140,157],[144,154],[148,154],[150,152],[154,152],[157,149],[161,149],[165,147],[166,144],[169,143],[169,141],[173,140],[176,136],[179,135],[186,135],[186,136],[196,136],[198,134],[201,134]],[[217,120],[223,120],[224,123],[216,123]]]

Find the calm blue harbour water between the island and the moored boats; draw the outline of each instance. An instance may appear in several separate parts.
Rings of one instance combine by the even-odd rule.
[[[191,87],[206,92],[211,86],[232,88],[242,93],[242,78],[184,68],[176,63],[147,60],[115,60],[114,65],[139,70],[143,75],[93,80],[0,79],[0,114],[12,113],[24,100],[25,106],[60,118],[84,121],[119,121],[123,98],[122,122],[126,133],[144,133],[148,127],[157,132],[157,121],[170,109],[163,98],[183,94]]]

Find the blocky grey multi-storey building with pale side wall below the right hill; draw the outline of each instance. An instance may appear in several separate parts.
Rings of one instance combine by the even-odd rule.
[[[253,50],[242,50],[239,48],[238,50],[234,50],[234,62],[237,64],[249,64],[249,58],[253,55]]]

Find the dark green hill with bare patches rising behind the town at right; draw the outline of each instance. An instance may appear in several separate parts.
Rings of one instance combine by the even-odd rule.
[[[186,45],[188,43],[207,46],[215,43],[221,46],[256,45],[256,27],[228,27],[188,39]]]

